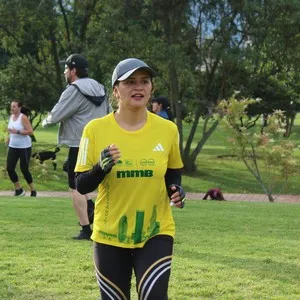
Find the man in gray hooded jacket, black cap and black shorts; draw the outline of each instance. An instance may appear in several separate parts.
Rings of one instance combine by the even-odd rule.
[[[69,147],[69,188],[74,209],[82,226],[79,235],[74,239],[89,240],[94,203],[88,200],[88,195],[81,195],[76,190],[74,169],[84,126],[92,119],[108,114],[111,106],[104,86],[88,77],[88,62],[82,55],[72,54],[67,58],[64,75],[68,86],[42,125],[49,127],[59,123],[58,144]],[[90,218],[88,211],[91,212]]]

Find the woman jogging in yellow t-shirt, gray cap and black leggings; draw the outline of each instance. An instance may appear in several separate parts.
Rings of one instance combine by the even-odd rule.
[[[133,271],[139,299],[168,299],[171,206],[183,208],[185,193],[177,127],[147,110],[154,76],[139,59],[119,62],[112,75],[119,107],[89,122],[80,142],[77,189],[98,188],[92,239],[102,300],[130,299]]]

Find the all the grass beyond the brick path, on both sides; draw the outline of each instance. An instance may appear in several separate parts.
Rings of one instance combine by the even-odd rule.
[[[3,124],[3,121],[2,121]],[[1,126],[1,121],[0,121]],[[184,136],[186,137],[190,130],[189,125],[184,126]],[[195,143],[199,141],[202,130],[202,123],[196,133]],[[52,128],[38,128],[35,132],[37,143],[33,145],[33,152],[54,149],[57,143],[58,126]],[[212,187],[219,187],[225,193],[262,193],[261,187],[256,179],[247,171],[241,161],[235,157],[230,157],[230,145],[228,142],[229,134],[223,126],[218,126],[212,136],[205,144],[203,150],[197,158],[197,172],[193,175],[183,176],[183,186],[188,192],[204,192]],[[296,119],[291,139],[300,144],[300,116]],[[51,149],[51,150],[52,150]],[[66,174],[62,172],[62,164],[67,157],[67,148],[61,147],[57,154],[57,171],[52,169],[51,163],[47,162],[46,171],[43,173],[40,165],[32,161],[31,170],[37,190],[57,190],[65,191],[68,189]],[[296,158],[300,162],[300,151],[296,152]],[[6,147],[0,143],[0,167],[5,168]],[[21,183],[26,186],[23,177],[20,174]],[[267,176],[268,174],[265,174]],[[3,177],[3,176],[2,176]],[[0,174],[1,178],[1,174]],[[0,181],[0,190],[10,190],[12,184],[8,177]],[[286,189],[282,190],[282,184],[279,184],[274,193],[300,194],[298,177],[290,178]]]

